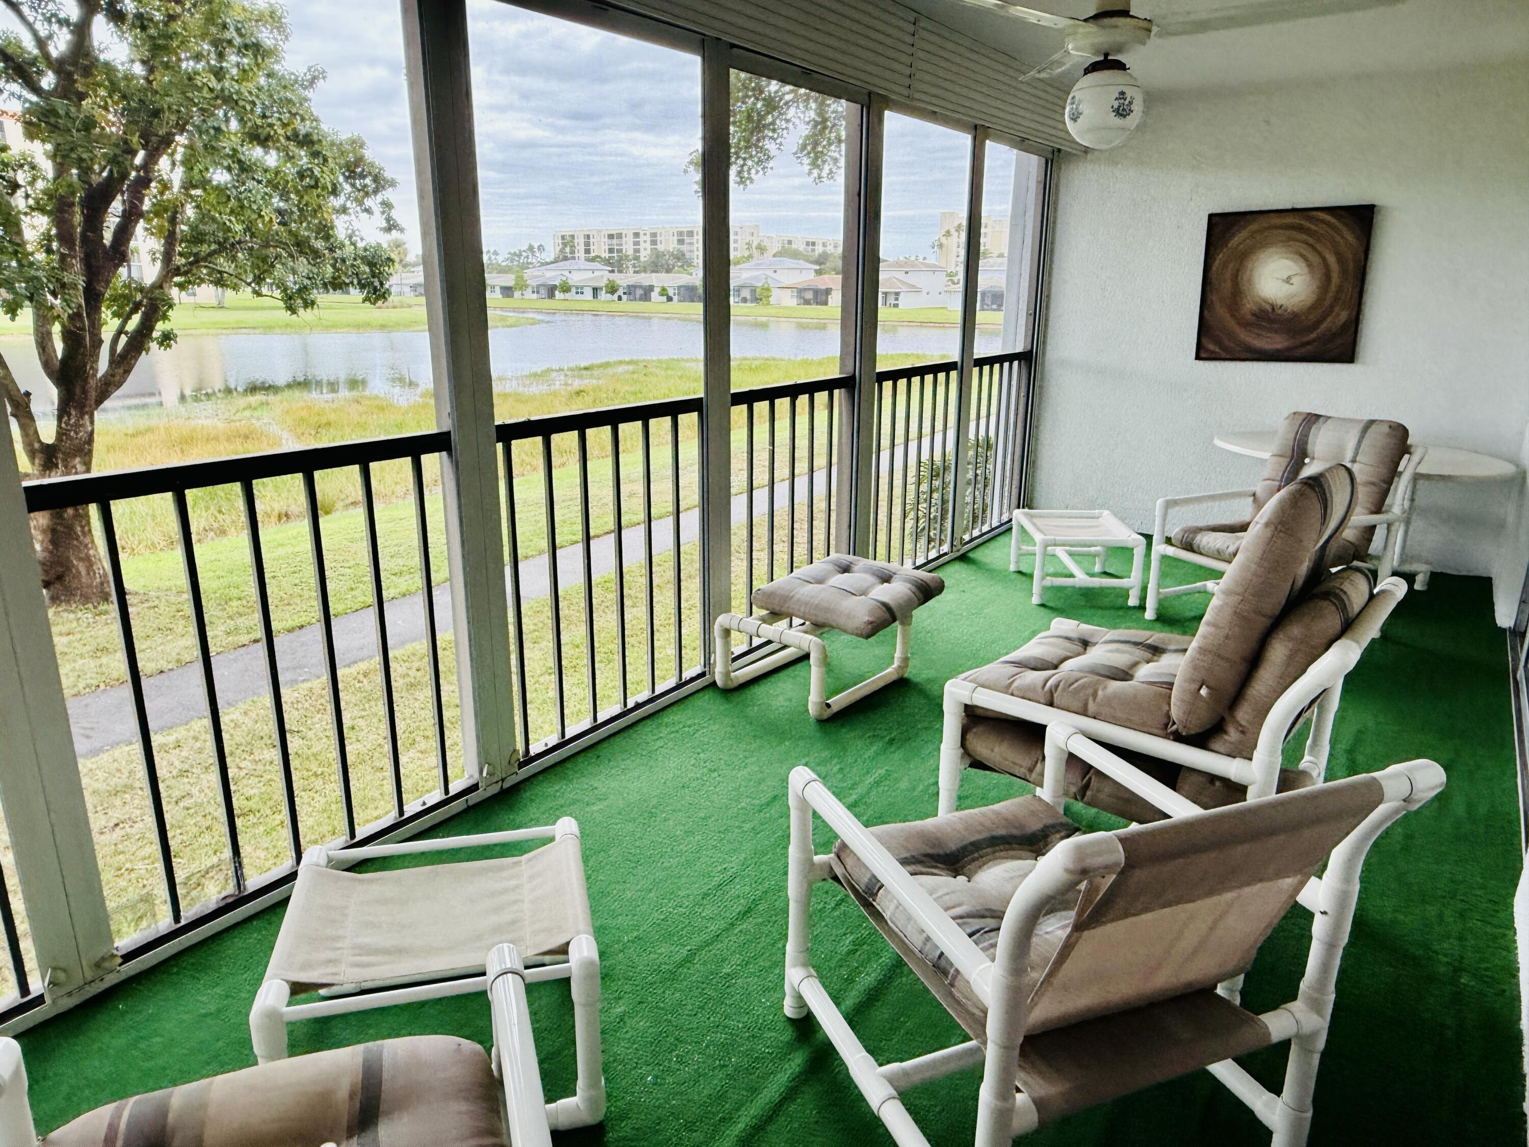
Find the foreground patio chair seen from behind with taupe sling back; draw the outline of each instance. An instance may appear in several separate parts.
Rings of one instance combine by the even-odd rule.
[[[1185,815],[1083,835],[1029,795],[867,830],[810,769],[792,771],[786,1015],[816,1017],[902,1147],[928,1142],[901,1092],[979,1063],[977,1147],[1200,1067],[1277,1147],[1301,1147],[1364,856],[1443,788],[1443,769],[1414,760],[1199,811],[1081,734],[1058,733]],[[813,812],[839,838],[832,855],[813,855]],[[809,962],[812,885],[824,879],[849,892],[966,1043],[901,1063],[870,1057]],[[1245,1011],[1242,976],[1297,899],[1313,911],[1300,993]],[[1280,1093],[1234,1063],[1286,1040]]]

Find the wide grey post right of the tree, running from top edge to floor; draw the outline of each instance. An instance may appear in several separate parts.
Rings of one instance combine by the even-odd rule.
[[[402,0],[404,60],[442,457],[462,755],[489,783],[515,772],[509,610],[488,350],[466,0]]]

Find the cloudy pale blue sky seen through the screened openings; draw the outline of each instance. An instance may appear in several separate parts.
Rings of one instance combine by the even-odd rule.
[[[364,136],[398,180],[394,210],[417,252],[398,3],[287,8],[287,64],[326,70],[313,96],[320,115]],[[497,0],[469,0],[468,20],[486,248],[550,248],[558,228],[699,223],[700,199],[685,170],[700,138],[696,57]],[[959,132],[888,116],[884,257],[930,257],[940,211],[965,210],[968,148]],[[1012,164],[989,158],[989,168],[1005,167],[1012,173]],[[989,171],[985,197],[1003,203],[989,214],[1006,214],[1011,177]],[[787,142],[769,174],[732,190],[732,222],[766,234],[839,236],[842,203],[842,184],[812,184]]]

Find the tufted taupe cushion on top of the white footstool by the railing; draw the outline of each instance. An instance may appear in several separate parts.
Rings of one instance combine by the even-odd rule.
[[[754,609],[870,638],[945,592],[945,580],[888,561],[830,554],[754,590]]]

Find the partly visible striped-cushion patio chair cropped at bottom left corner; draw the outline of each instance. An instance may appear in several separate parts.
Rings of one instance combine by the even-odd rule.
[[[451,1035],[313,1052],[109,1103],[40,1147],[550,1147],[526,968],[508,944],[485,963],[492,1057]],[[0,1147],[38,1147],[21,1048],[9,1038],[0,1038]]]

